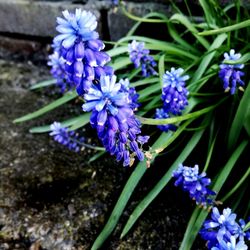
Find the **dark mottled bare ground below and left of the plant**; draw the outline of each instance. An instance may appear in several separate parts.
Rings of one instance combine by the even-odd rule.
[[[123,168],[109,155],[88,163],[96,153],[93,150],[73,153],[48,134],[29,133],[32,126],[50,124],[80,112],[80,105],[74,102],[31,122],[12,122],[55,98],[52,89],[28,89],[49,78],[46,66],[32,61],[0,60],[1,250],[90,249],[133,170]],[[93,133],[89,128],[87,131],[88,135]],[[166,161],[159,161],[148,170],[103,249],[178,249],[191,213],[186,204],[191,202],[171,185],[150,205],[128,236],[119,240],[130,212],[160,179],[163,162]]]

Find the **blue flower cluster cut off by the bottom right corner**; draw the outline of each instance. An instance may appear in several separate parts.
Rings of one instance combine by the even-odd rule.
[[[244,231],[244,220],[236,221],[236,214],[230,208],[220,214],[217,207],[211,213],[211,219],[206,220],[200,231],[201,237],[207,240],[207,246],[212,250],[246,250],[245,239],[250,240],[250,231]]]

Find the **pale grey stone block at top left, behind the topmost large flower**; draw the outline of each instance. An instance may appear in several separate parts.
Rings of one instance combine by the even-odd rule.
[[[54,36],[56,17],[65,9],[90,10],[97,19],[100,13],[88,5],[67,2],[31,2],[28,0],[0,0],[0,32],[31,36]],[[99,25],[99,31],[100,31]]]

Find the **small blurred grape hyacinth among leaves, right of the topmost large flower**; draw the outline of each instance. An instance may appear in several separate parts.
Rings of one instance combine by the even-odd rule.
[[[154,58],[149,55],[149,50],[144,48],[144,42],[132,41],[128,45],[128,53],[135,68],[141,67],[142,76],[157,75],[154,67],[157,65]]]

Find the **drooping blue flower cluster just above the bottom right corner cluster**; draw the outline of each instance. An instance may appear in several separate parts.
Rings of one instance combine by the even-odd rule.
[[[211,180],[206,177],[206,173],[199,174],[199,167],[193,168],[179,165],[178,169],[173,172],[176,178],[175,186],[181,186],[184,191],[189,192],[190,198],[196,201],[196,204],[207,207],[213,205],[213,196],[216,194],[207,186]]]

